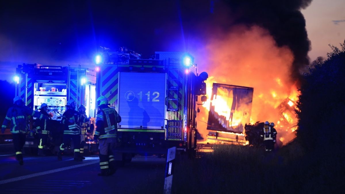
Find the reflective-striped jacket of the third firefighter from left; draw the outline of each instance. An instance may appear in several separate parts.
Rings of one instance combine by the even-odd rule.
[[[70,123],[69,120],[72,120]],[[88,118],[80,117],[80,113],[74,109],[68,109],[63,113],[61,123],[64,135],[80,135],[80,122],[87,122]]]

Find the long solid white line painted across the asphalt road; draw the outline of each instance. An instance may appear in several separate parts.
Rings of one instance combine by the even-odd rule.
[[[77,164],[77,165],[73,165],[73,166],[67,166],[67,167],[63,167],[63,168],[53,169],[53,170],[50,170],[50,171],[29,174],[29,175],[19,176],[19,177],[15,177],[15,178],[9,178],[9,179],[0,181],[0,185],[1,184],[5,184],[5,183],[14,182],[14,181],[20,181],[20,180],[24,180],[24,179],[32,178],[32,177],[36,177],[36,176],[42,176],[42,175],[56,173],[56,172],[60,172],[60,171],[66,171],[68,169],[78,168],[78,167],[81,167],[81,166],[87,166],[87,165],[96,164],[96,163],[99,163],[98,159],[96,159],[95,161],[87,162],[87,163],[83,163],[83,164]]]

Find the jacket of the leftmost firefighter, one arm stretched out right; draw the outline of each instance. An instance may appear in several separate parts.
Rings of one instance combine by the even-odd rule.
[[[1,128],[6,128],[7,126],[10,126],[10,131],[12,134],[27,133],[28,116],[37,117],[39,119],[47,118],[43,116],[42,113],[34,111],[25,105],[23,105],[22,107],[13,105],[8,109]]]

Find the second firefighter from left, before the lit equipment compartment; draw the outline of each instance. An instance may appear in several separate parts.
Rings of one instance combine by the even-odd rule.
[[[50,115],[48,115],[47,110],[48,110],[48,105],[46,103],[41,104],[40,108],[40,113],[45,115],[50,119]],[[38,155],[39,156],[46,156],[46,154],[43,152],[44,151],[44,146],[47,144],[48,136],[49,136],[49,127],[50,127],[50,122],[49,119],[41,119],[38,122],[38,126],[36,127],[36,133],[37,137],[39,139],[38,143]]]

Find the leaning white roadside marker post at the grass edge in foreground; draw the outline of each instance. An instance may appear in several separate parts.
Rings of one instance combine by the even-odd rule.
[[[167,166],[165,168],[164,194],[171,193],[172,174],[174,174],[176,147],[168,149]]]

